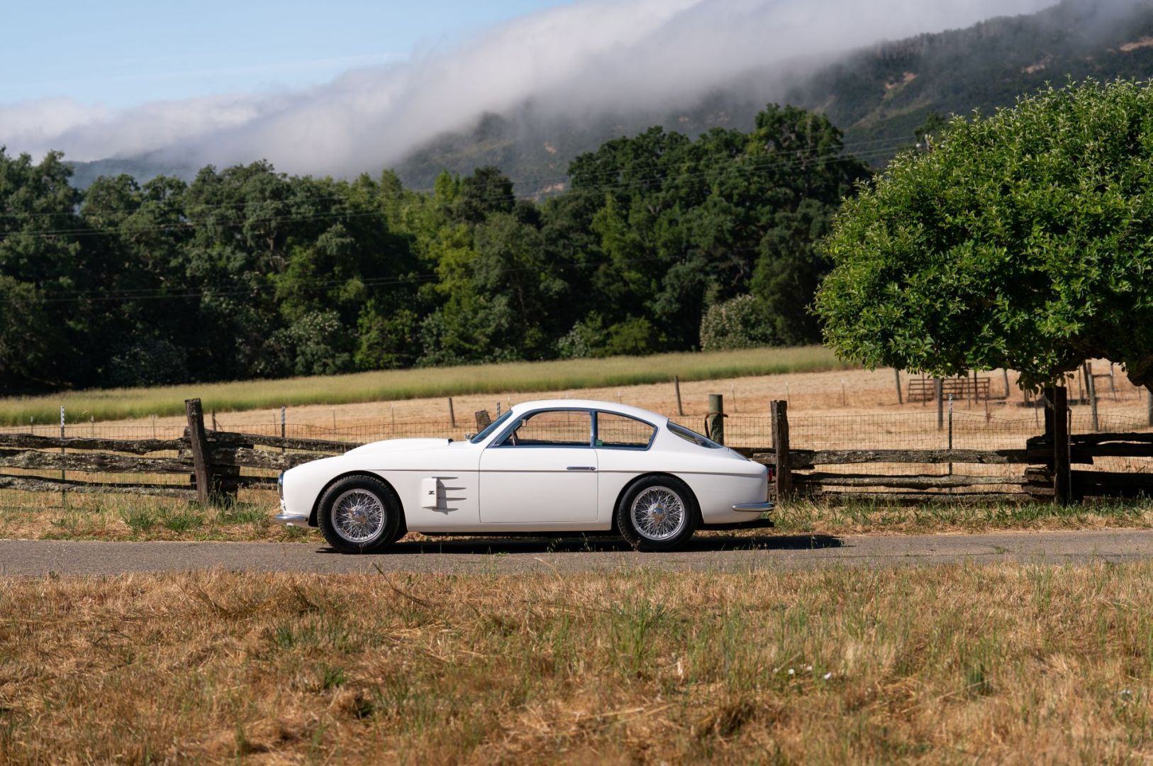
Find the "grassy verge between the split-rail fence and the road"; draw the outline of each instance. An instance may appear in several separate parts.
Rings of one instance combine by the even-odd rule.
[[[307,541],[324,545],[316,531],[286,530],[272,521],[277,512],[269,493],[246,490],[234,508],[196,508],[183,501],[131,495],[69,496],[12,493],[0,506],[0,539],[25,540],[220,540]],[[1116,501],[1060,506],[1048,503],[886,505],[860,502],[830,505],[809,501],[785,503],[773,512],[770,534],[924,534],[1010,530],[1100,530],[1153,527],[1153,501]],[[751,542],[767,531],[725,532]],[[698,533],[715,534],[715,533]],[[408,540],[419,540],[412,535]],[[755,545],[755,542],[754,542]]]

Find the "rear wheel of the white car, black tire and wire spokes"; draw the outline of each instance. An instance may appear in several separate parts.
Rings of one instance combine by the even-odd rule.
[[[675,550],[696,530],[696,500],[675,476],[646,476],[624,494],[617,528],[636,550]]]

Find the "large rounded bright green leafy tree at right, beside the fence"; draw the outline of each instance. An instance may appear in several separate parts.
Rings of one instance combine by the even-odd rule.
[[[1086,358],[1153,388],[1153,89],[1047,89],[951,121],[838,215],[816,307],[867,366],[1009,367],[1041,385]]]

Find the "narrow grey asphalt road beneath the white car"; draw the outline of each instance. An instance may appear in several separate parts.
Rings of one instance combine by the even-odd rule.
[[[71,542],[0,540],[0,574],[119,574],[212,568],[246,571],[442,573],[580,572],[620,569],[748,571],[813,566],[906,566],[957,562],[1131,562],[1153,558],[1153,531],[939,535],[695,538],[675,554],[639,554],[611,538],[449,539],[401,542],[389,553],[342,556],[315,543]]]

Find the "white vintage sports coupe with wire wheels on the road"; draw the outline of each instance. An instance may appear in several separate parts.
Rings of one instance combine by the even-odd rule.
[[[351,554],[408,531],[616,532],[671,550],[698,528],[770,526],[767,471],[654,412],[528,401],[464,442],[397,438],[286,471],[277,520]]]

